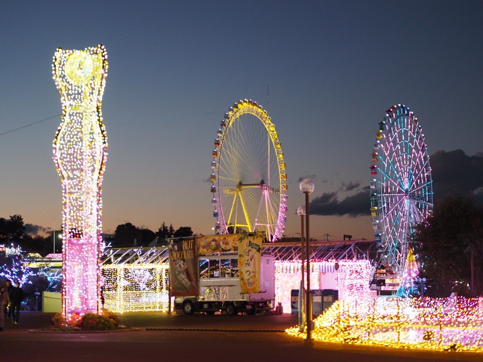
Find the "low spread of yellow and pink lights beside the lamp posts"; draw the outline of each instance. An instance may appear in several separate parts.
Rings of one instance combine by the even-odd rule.
[[[314,321],[312,338],[390,347],[483,351],[483,298],[337,301]],[[305,337],[298,326],[287,333]]]

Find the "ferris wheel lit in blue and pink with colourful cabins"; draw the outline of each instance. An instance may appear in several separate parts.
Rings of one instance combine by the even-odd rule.
[[[408,238],[433,210],[426,142],[409,107],[392,106],[382,117],[370,169],[372,226],[380,262],[400,277],[408,256]]]

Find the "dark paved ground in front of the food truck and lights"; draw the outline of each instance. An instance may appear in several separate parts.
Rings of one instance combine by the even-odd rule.
[[[48,325],[53,314],[24,312],[20,324],[0,332],[4,359],[16,362],[77,361],[482,361],[483,353],[442,352],[314,342],[280,330],[296,316],[167,315],[125,313],[132,331],[105,333],[29,332]],[[11,356],[9,356],[11,354]]]

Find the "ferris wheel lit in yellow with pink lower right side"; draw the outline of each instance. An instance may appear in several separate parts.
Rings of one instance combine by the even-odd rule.
[[[211,192],[221,234],[264,231],[282,237],[287,203],[285,162],[275,125],[252,100],[233,104],[214,141]]]

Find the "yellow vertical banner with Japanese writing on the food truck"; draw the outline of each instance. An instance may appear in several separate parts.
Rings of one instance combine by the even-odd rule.
[[[238,272],[241,293],[260,292],[260,260],[263,234],[240,234],[238,238]]]

